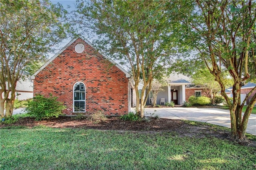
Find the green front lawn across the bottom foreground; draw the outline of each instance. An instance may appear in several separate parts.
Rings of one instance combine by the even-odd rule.
[[[0,169],[255,169],[256,148],[217,138],[72,128],[0,130]]]

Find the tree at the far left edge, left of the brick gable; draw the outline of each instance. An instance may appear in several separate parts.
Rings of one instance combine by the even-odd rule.
[[[65,38],[63,12],[48,0],[0,0],[1,118],[12,116],[17,81],[31,75],[50,47]]]

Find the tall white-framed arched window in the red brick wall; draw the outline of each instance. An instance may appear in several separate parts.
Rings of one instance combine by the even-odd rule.
[[[85,85],[82,82],[73,87],[73,112],[85,112]]]

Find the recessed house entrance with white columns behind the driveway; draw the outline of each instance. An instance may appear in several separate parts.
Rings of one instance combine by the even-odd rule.
[[[192,95],[196,97],[206,96],[202,87],[192,87],[190,78],[182,74],[171,74],[168,84],[168,86],[162,87],[163,91],[158,92],[156,99],[157,105],[160,105],[161,98],[164,98],[165,102],[174,101],[176,105],[182,105]],[[147,105],[151,105],[152,96],[152,92],[150,91]]]

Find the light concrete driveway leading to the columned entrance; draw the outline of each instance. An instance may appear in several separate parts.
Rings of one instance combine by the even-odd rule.
[[[145,115],[150,116],[150,113],[155,113],[160,118],[183,119],[231,127],[230,113],[228,110],[223,109],[186,107],[146,108]],[[256,115],[250,115],[246,132],[256,135]]]

